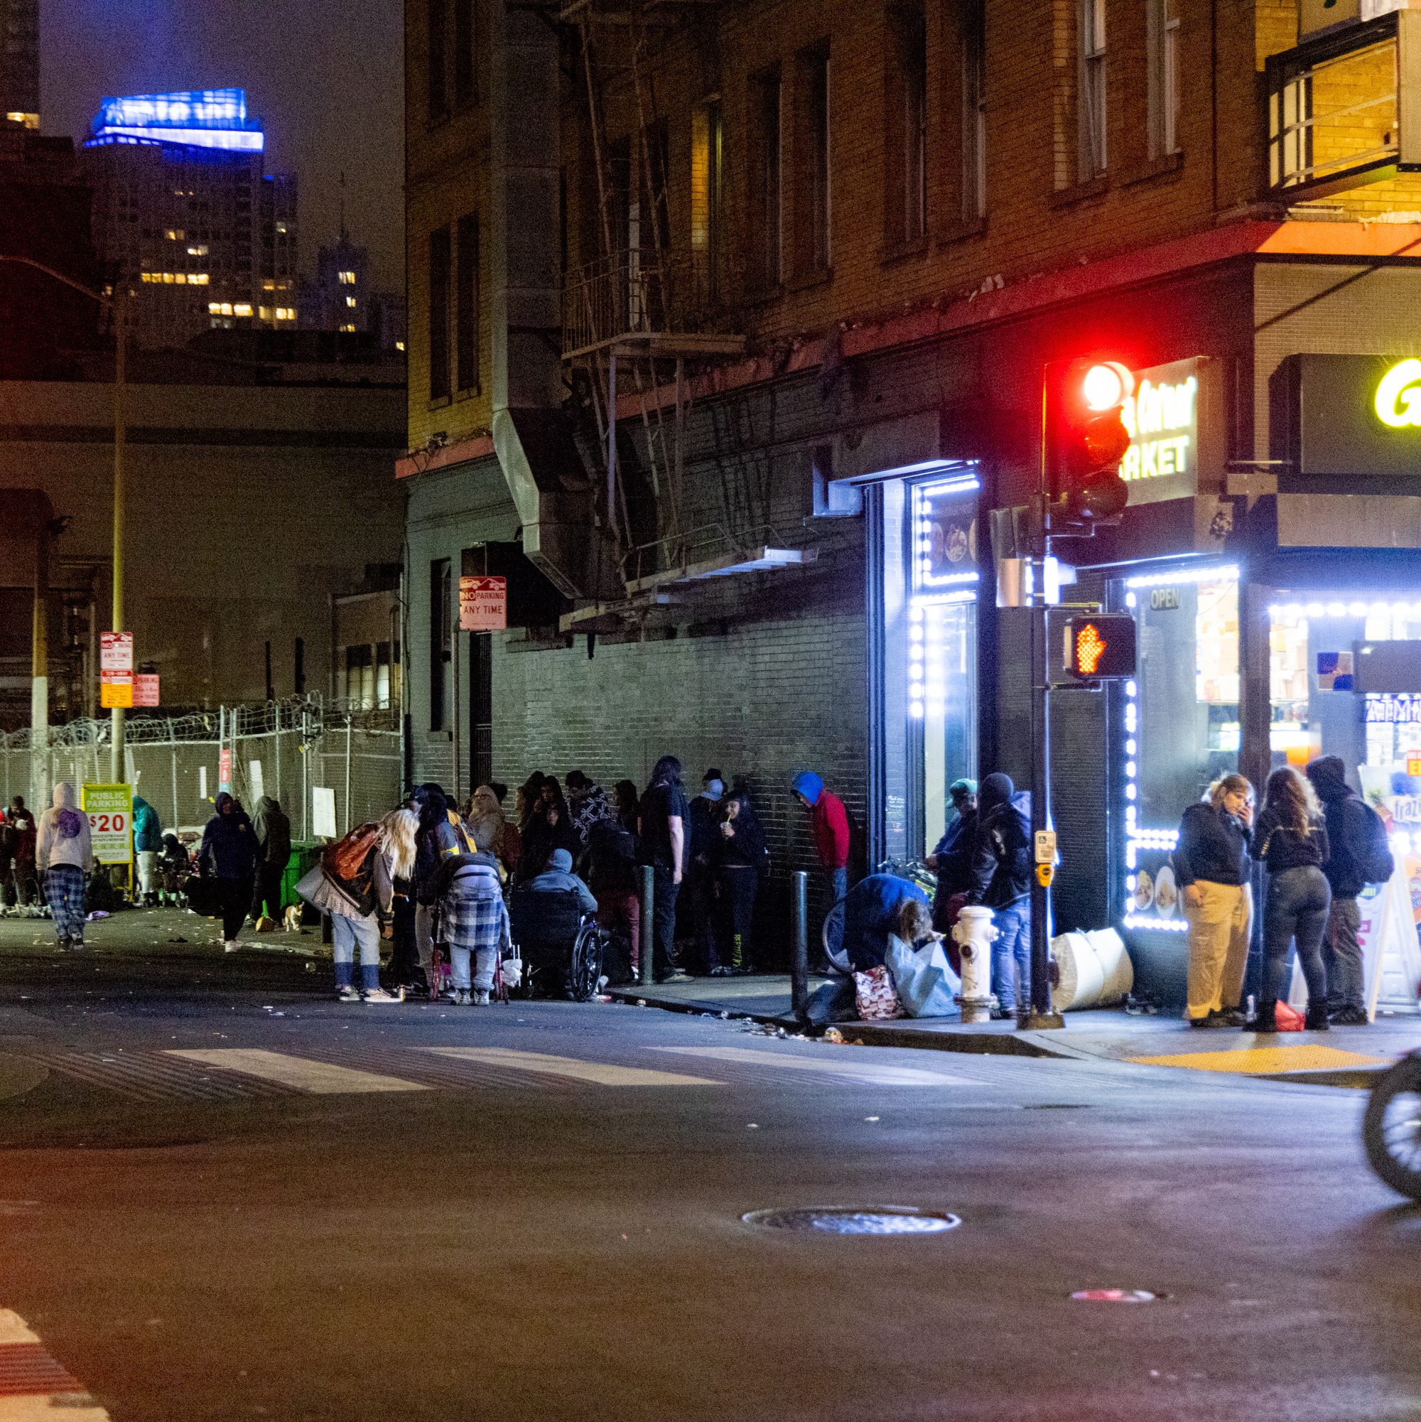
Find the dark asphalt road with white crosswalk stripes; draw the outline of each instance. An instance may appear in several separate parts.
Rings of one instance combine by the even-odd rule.
[[[1421,1416],[1360,1094],[0,930],[0,1310],[115,1422]],[[872,1204],[962,1223],[742,1221]]]

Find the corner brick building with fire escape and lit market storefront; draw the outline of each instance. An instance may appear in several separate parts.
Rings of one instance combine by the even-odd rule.
[[[1135,693],[1056,698],[1057,921],[1120,923],[1175,997],[1177,923],[1130,907],[1151,836],[1226,762],[1260,781],[1295,731],[1326,744],[1307,695],[1273,694],[1310,646],[1275,596],[1336,580],[1324,547],[1351,550],[1357,596],[1421,589],[1404,481],[1309,481],[1290,442],[1299,360],[1421,337],[1397,118],[1421,17],[468,4],[406,7],[414,774],[458,749],[460,791],[612,779],[675,751],[747,774],[783,873],[809,859],[787,782],[816,768],[874,859],[921,855],[956,774],[1029,778],[989,513],[1034,488],[1043,365],[1111,356],[1192,392],[1196,458],[1177,496],[1137,491],[1060,549],[1080,599],[1138,609],[1147,650]],[[446,634],[436,563],[507,563],[510,631]],[[1161,630],[1137,587],[1175,576]],[[1188,734],[1151,700],[1165,648],[1198,664]],[[1123,749],[1137,724],[1161,765],[1160,737],[1198,747],[1155,785],[1154,752]]]

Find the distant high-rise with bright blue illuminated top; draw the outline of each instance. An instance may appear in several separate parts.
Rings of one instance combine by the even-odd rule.
[[[84,145],[94,242],[134,283],[148,348],[212,327],[296,327],[296,179],[267,176],[243,90],[107,98]]]

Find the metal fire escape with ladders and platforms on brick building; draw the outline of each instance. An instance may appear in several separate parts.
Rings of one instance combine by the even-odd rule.
[[[584,452],[601,476],[600,506],[627,586],[625,602],[580,607],[563,619],[564,630],[637,616],[666,602],[674,583],[801,560],[743,529],[688,522],[686,415],[695,380],[745,351],[745,337],[725,330],[729,317],[708,255],[672,240],[654,37],[678,24],[688,3],[710,0],[570,0],[561,10],[578,41],[598,243],[597,259],[567,274],[563,361],[590,407]],[[621,127],[631,118],[617,158],[610,95]]]

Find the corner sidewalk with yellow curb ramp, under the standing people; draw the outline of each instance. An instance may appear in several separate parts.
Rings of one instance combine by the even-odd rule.
[[[810,991],[821,983],[810,978]],[[773,1025],[791,1025],[790,980],[755,974],[691,978],[642,990],[611,990],[612,997],[674,1012],[716,1012]],[[1378,1014],[1370,1027],[1329,1032],[1194,1031],[1178,1017],[1135,1017],[1123,1008],[1066,1012],[1060,1031],[1023,1032],[1012,1022],[965,1024],[956,1017],[899,1018],[891,1022],[840,1022],[845,1041],[865,1047],[917,1047],[946,1052],[1043,1057],[1057,1061],[1117,1061],[1323,1085],[1367,1085],[1378,1066],[1421,1047],[1421,1014]]]

